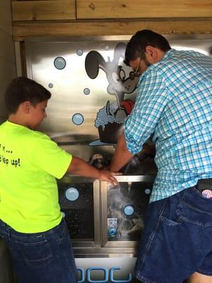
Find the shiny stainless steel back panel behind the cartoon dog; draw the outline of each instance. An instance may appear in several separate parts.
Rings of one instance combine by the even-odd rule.
[[[25,42],[28,77],[42,83],[52,92],[47,119],[40,130],[73,155],[88,160],[93,154],[103,154],[110,158],[114,153],[112,142],[101,142],[95,120],[98,112],[108,105],[107,101],[110,106],[117,103],[117,93],[122,96],[121,100],[135,100],[136,89],[133,89],[136,88],[136,81],[130,81],[131,69],[123,63],[124,44],[129,38],[37,37]],[[177,49],[193,49],[210,54],[212,48],[211,35],[170,35],[167,39]],[[122,52],[116,53],[115,49],[120,43],[123,44]],[[105,68],[99,66],[95,79],[88,76],[85,67],[86,57],[91,50],[102,57],[105,65]],[[57,60],[59,69],[55,67]],[[125,79],[116,83],[117,89],[114,88],[115,83],[111,83],[111,77],[115,77],[113,71],[105,71],[111,62],[116,64],[117,69],[121,66],[125,72]],[[128,91],[122,89],[120,94],[120,88],[126,86],[128,81],[131,82],[131,88]],[[112,130],[110,134],[114,134]]]

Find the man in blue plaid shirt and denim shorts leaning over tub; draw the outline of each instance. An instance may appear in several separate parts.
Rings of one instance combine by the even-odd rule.
[[[155,178],[136,262],[145,283],[212,282],[212,59],[136,33],[125,60],[141,75],[110,170],[153,137]],[[191,276],[192,275],[192,276]]]

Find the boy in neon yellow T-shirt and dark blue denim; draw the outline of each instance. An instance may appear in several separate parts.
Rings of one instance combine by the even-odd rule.
[[[71,241],[58,203],[66,172],[117,184],[35,131],[47,117],[51,93],[18,77],[5,93],[8,120],[0,126],[0,236],[11,250],[18,283],[76,282]]]

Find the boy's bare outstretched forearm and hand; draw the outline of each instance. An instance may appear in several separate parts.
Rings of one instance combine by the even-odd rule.
[[[71,163],[66,173],[72,173],[74,175],[81,175],[88,178],[95,178],[101,181],[107,181],[114,185],[117,185],[117,179],[114,175],[120,175],[120,173],[110,172],[107,170],[98,170],[90,164],[86,163],[81,158],[72,156]]]

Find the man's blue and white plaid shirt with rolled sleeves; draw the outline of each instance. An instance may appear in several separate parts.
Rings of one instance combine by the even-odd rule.
[[[172,49],[148,67],[124,134],[131,154],[153,135],[158,174],[151,202],[212,178],[212,59]]]

